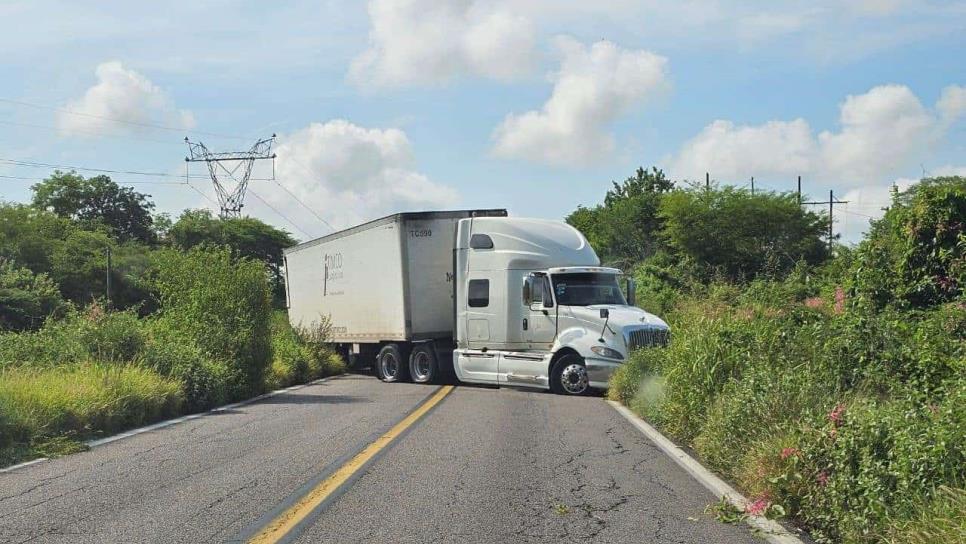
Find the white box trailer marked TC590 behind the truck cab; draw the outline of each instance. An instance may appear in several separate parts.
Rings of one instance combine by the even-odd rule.
[[[332,341],[353,365],[371,363],[387,342],[451,344],[457,222],[506,215],[398,213],[288,248],[289,320],[311,326],[327,317]]]

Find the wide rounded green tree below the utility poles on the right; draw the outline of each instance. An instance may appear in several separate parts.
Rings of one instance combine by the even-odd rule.
[[[828,220],[805,211],[792,193],[743,189],[675,190],[661,200],[663,237],[679,258],[731,280],[781,276],[799,261],[828,257]]]

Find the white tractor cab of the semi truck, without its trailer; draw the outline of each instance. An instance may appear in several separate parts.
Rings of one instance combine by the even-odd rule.
[[[667,324],[628,303],[621,271],[566,223],[461,219],[454,268],[461,381],[581,395],[606,387],[632,350],[668,341]]]

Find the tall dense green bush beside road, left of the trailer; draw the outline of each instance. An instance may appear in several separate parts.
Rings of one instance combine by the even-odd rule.
[[[155,254],[152,279],[169,326],[229,365],[229,397],[260,393],[272,360],[265,266],[227,249],[165,250]]]

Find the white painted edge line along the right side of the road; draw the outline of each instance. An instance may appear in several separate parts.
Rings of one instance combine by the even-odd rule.
[[[710,470],[704,468],[704,465],[688,455],[687,452],[678,447],[669,438],[661,434],[660,431],[641,419],[637,414],[630,411],[626,406],[613,400],[608,400],[607,404],[610,404],[614,410],[617,410],[617,413],[624,416],[624,419],[629,421],[631,425],[641,432],[641,434],[646,436],[668,457],[673,459],[678,466],[690,474],[692,478],[707,488],[708,491],[714,493],[716,497],[724,498],[742,512],[744,512],[746,506],[751,503],[747,497],[736,491],[735,488],[728,485],[728,483],[721,478],[715,476]],[[744,520],[753,529],[758,531],[761,537],[771,544],[804,544],[800,538],[792,534],[777,521],[770,520],[762,516],[750,515],[746,516]]]

